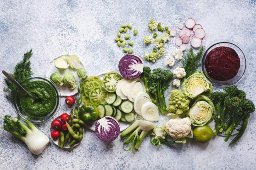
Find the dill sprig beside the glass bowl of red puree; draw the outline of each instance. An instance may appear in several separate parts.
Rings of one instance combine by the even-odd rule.
[[[189,51],[184,55],[182,60],[182,68],[186,71],[186,77],[192,75],[200,65],[200,59],[205,50],[205,47],[200,47],[197,53],[194,53],[193,48],[190,47]]]

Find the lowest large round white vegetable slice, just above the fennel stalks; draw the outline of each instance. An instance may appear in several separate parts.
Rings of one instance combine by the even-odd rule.
[[[158,121],[159,112],[157,106],[152,102],[146,102],[141,107],[141,116],[147,121]]]

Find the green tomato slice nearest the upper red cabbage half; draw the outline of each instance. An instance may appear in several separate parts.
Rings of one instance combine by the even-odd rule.
[[[117,89],[117,83],[120,80],[121,75],[117,72],[111,71],[103,77],[102,85],[108,92],[115,92]]]

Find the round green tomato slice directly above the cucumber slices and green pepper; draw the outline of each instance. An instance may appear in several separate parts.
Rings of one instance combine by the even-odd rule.
[[[91,103],[95,105],[104,104],[106,102],[105,98],[106,98],[106,91],[101,87],[97,87],[94,90],[91,90],[89,95],[89,99]]]

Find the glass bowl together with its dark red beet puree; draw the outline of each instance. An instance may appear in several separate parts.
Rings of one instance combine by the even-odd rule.
[[[234,43],[217,42],[204,51],[200,69],[206,79],[217,88],[237,84],[245,75],[245,54]]]

